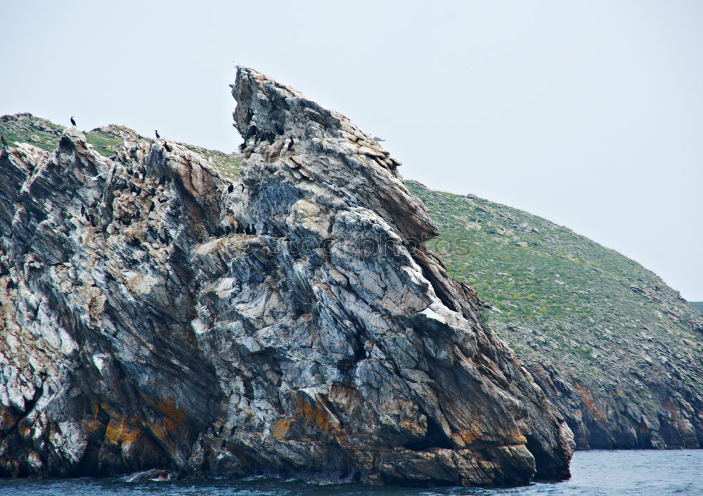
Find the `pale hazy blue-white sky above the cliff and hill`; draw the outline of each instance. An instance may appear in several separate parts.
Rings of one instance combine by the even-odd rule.
[[[703,301],[703,1],[0,0],[0,114],[229,152],[254,67]]]

